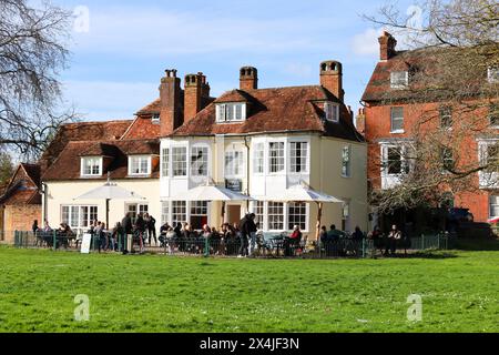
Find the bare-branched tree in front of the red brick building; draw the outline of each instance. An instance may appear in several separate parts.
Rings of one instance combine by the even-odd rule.
[[[449,194],[479,189],[478,173],[490,178],[490,186],[499,183],[498,143],[487,148],[486,159],[477,159],[480,152],[468,149],[472,140],[498,138],[489,119],[499,118],[499,4],[497,0],[426,0],[414,9],[407,14],[387,4],[378,16],[365,16],[404,38],[411,49],[400,54],[410,55],[410,85],[401,95],[418,110],[414,112],[418,120],[407,129],[410,139],[399,142],[406,146],[401,159],[406,171],[399,183],[371,192],[371,203],[381,213],[441,205]],[[400,101],[387,93],[384,102]],[[418,103],[424,102],[438,104],[421,109]]]

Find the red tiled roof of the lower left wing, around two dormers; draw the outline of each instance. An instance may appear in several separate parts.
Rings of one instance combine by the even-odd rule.
[[[70,142],[43,174],[44,181],[79,180],[80,158],[85,152],[111,154],[112,159],[100,179],[106,179],[110,172],[112,179],[126,179],[128,155],[134,154],[160,154],[157,140],[126,140],[108,142]],[[104,166],[105,168],[105,166]],[[153,166],[150,178],[159,178],[159,165]]]

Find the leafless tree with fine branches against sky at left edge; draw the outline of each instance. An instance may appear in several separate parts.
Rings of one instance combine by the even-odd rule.
[[[59,71],[67,67],[72,14],[42,2],[0,0],[0,149],[35,159],[58,126]]]

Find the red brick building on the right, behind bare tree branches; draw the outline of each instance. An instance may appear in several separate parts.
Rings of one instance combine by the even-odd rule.
[[[422,99],[411,97],[414,91],[409,89],[413,84],[413,73],[424,65],[429,65],[428,63],[438,67],[438,63],[430,60],[432,49],[397,51],[396,44],[396,39],[387,32],[379,38],[379,62],[361,99],[365,109],[360,110],[357,118],[357,128],[368,142],[370,189],[390,189],[397,185],[400,178],[413,169],[411,162],[406,159],[410,155],[408,154],[408,143],[414,140],[417,124],[425,118],[430,114],[435,115],[435,120],[428,120],[431,123],[425,126],[428,129],[426,131],[428,134],[431,134],[431,130],[435,131],[437,128],[455,134],[457,130],[452,130],[460,123],[457,122],[457,118],[452,116],[452,112],[455,112],[452,110],[456,108],[452,108],[450,103],[430,94]],[[497,70],[493,72],[492,69],[489,69],[488,75],[483,73],[483,79],[488,79],[490,84],[495,84],[497,75]],[[467,100],[469,100],[468,103],[472,103],[473,99]],[[459,120],[472,118],[470,126],[473,128],[473,130],[469,130],[469,134],[465,134],[462,138],[459,151],[454,153],[455,156],[460,158],[461,162],[479,163],[497,159],[497,142],[499,141],[497,110],[495,110],[493,102],[481,103],[476,110],[459,116]],[[478,133],[475,134],[475,131]],[[442,154],[441,159],[448,159],[451,163],[452,154],[450,156]],[[466,193],[449,194],[449,204],[469,209],[476,222],[487,222],[491,217],[497,217],[499,215],[497,178],[497,172],[487,174],[482,171],[473,174],[473,189]],[[490,181],[495,182],[490,183]],[[375,210],[373,211],[375,212]],[[391,222],[399,222],[387,216],[383,217],[386,223],[380,221],[380,224],[385,224],[385,227]],[[416,216],[408,217],[410,222],[418,223],[414,220]],[[421,217],[425,220],[425,215]],[[428,215],[426,215],[426,220],[428,220]],[[376,213],[374,213],[373,222],[373,224],[378,222]]]

